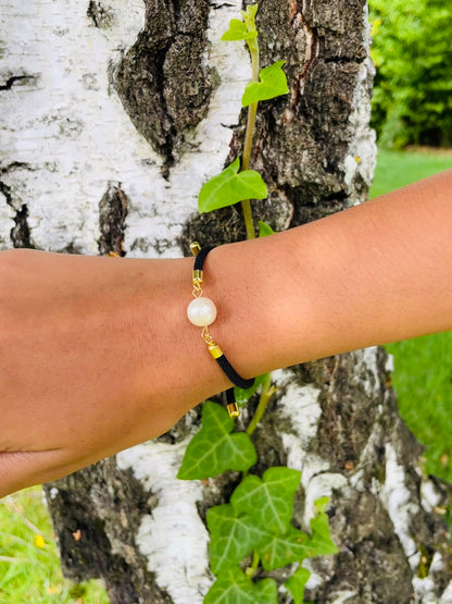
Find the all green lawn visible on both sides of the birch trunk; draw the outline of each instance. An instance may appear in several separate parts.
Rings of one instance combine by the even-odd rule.
[[[452,167],[452,155],[380,151],[371,196]],[[452,333],[391,344],[402,417],[426,445],[426,470],[452,481]],[[39,488],[0,500],[0,602],[108,604],[100,582],[63,579]]]

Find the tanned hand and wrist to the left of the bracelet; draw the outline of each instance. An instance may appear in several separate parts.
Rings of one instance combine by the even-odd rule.
[[[191,264],[0,254],[0,496],[156,436],[226,387],[185,316]]]

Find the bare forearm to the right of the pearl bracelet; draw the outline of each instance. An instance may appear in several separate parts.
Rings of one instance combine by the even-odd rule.
[[[218,341],[252,375],[452,329],[451,190],[449,171],[215,250],[206,288],[219,299]]]

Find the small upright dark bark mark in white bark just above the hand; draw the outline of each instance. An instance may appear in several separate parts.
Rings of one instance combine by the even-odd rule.
[[[123,244],[127,207],[128,199],[121,183],[110,183],[99,202],[99,254],[125,256]]]

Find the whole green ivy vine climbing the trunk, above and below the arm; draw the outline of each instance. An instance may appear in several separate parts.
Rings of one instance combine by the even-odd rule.
[[[261,174],[249,168],[258,104],[289,91],[282,70],[285,61],[259,69],[256,11],[258,4],[248,5],[241,13],[242,21],[233,19],[222,37],[226,41],[244,40],[251,57],[253,77],[242,96],[242,106],[248,107],[243,153],[205,183],[199,194],[200,212],[241,202],[248,238],[255,236],[250,199],[267,197]],[[260,221],[259,236],[272,234],[271,226]],[[262,478],[248,473],[258,460],[251,436],[275,392],[269,373],[256,378],[248,391],[235,389],[239,406],[259,393],[256,410],[244,431],[235,430],[235,420],[222,405],[204,403],[201,429],[188,444],[177,474],[183,480],[202,480],[229,470],[242,472],[229,503],[211,507],[206,513],[210,566],[216,580],[204,604],[277,604],[276,580],[255,577],[288,565],[293,565],[294,571],[284,588],[294,604],[302,604],[310,577],[302,562],[337,553],[325,511],[327,497],[315,502],[311,534],[292,523],[294,496],[301,481],[298,470],[268,468]]]

